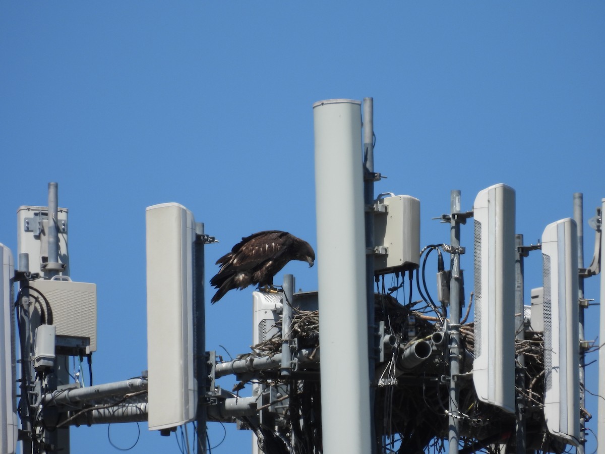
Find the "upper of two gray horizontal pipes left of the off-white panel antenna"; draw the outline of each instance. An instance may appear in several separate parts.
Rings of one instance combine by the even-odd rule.
[[[44,395],[42,398],[42,404],[47,406],[73,405],[80,402],[87,402],[105,397],[126,395],[146,389],[146,378],[131,378],[130,380],[97,384],[95,386],[85,388],[61,389],[53,391]]]

